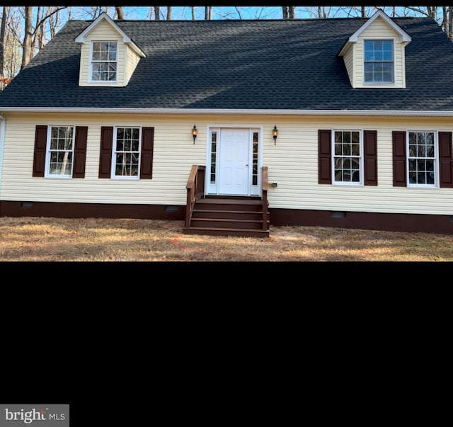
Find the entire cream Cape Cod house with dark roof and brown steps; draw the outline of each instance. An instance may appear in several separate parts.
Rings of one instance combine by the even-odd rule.
[[[430,18],[69,21],[0,93],[0,217],[453,233]]]

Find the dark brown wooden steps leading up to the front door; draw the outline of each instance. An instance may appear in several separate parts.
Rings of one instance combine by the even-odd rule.
[[[263,221],[265,221],[264,224]],[[193,206],[190,224],[183,228],[183,233],[269,237],[268,207],[264,206],[260,197],[206,196],[199,198]]]

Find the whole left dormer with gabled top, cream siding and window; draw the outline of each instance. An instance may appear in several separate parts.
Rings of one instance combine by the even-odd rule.
[[[79,86],[126,86],[144,52],[103,12],[76,38]]]

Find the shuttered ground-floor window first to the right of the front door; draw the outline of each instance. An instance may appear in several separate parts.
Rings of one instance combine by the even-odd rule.
[[[359,130],[333,130],[333,182],[362,183],[362,141]]]

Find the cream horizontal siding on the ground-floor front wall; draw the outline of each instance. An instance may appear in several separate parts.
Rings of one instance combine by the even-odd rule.
[[[6,115],[6,114],[5,114]],[[453,188],[393,186],[392,130],[453,130],[451,118],[290,117],[191,115],[6,115],[1,200],[67,203],[185,205],[193,164],[206,164],[210,125],[263,126],[263,166],[268,166],[271,208],[453,215]],[[193,144],[192,127],[198,137]],[[85,178],[33,178],[35,125],[87,125]],[[272,130],[279,134],[274,145]],[[153,178],[120,181],[98,178],[101,126],[154,127]],[[319,129],[377,130],[378,186],[318,183]]]

